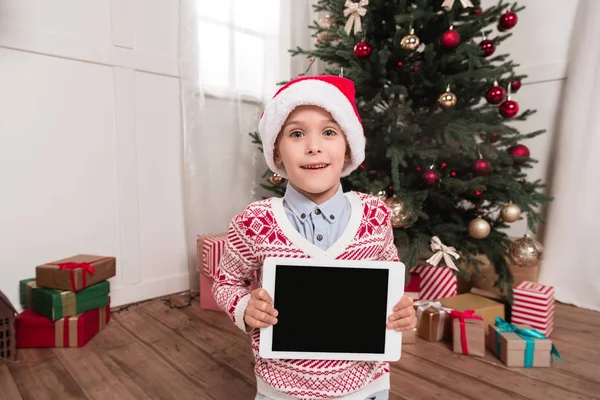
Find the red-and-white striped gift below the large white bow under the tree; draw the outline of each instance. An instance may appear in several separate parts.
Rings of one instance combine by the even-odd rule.
[[[456,296],[458,281],[450,268],[420,265],[411,268],[410,271],[421,277],[420,300],[437,300]]]

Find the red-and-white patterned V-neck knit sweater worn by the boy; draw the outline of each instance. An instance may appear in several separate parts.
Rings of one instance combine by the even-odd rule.
[[[350,220],[327,250],[294,229],[281,198],[252,203],[233,218],[213,294],[238,328],[246,331],[243,315],[250,300],[249,285],[255,273],[259,286],[262,285],[266,257],[399,261],[387,205],[363,193],[345,195],[352,206]],[[381,390],[381,385],[373,382],[387,380],[389,386],[387,362],[262,359],[258,355],[260,331],[254,329],[251,334],[259,390],[261,384],[266,384],[268,389],[284,394],[281,398],[331,399],[347,398],[351,393],[362,392],[367,385],[368,390],[372,386]],[[361,393],[363,399],[367,395]]]

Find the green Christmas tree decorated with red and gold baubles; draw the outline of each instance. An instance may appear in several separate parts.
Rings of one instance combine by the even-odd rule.
[[[509,296],[503,229],[524,214],[535,232],[539,207],[551,200],[526,175],[536,160],[523,141],[544,130],[508,124],[535,112],[519,109],[525,76],[498,54],[522,9],[499,2],[483,10],[479,0],[321,0],[315,10],[324,16],[309,27],[315,48],[290,50],[355,82],[366,158],[342,184],[386,200],[396,244],[407,249],[402,261],[416,265],[437,236],[467,265],[487,255]],[[283,195],[283,178],[265,178],[264,188]]]

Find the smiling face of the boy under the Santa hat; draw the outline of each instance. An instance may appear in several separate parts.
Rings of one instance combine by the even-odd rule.
[[[331,114],[317,106],[299,106],[277,138],[275,163],[283,164],[290,183],[313,202],[331,198],[350,158],[346,137]]]

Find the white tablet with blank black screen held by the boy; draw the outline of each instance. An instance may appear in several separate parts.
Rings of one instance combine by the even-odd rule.
[[[278,311],[259,355],[296,360],[398,361],[402,333],[386,327],[404,294],[401,262],[266,258],[263,288]]]

